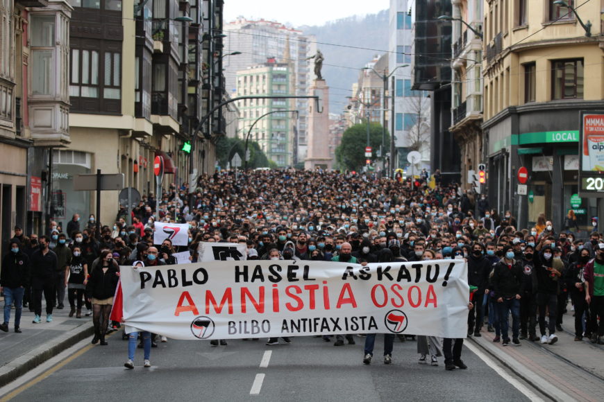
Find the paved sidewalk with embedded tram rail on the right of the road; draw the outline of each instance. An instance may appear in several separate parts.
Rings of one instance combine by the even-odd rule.
[[[572,312],[564,315],[562,327],[574,331]],[[503,347],[495,343],[495,333],[486,331],[482,337],[471,337],[494,358],[554,401],[602,401],[604,398],[604,347],[587,340],[574,341],[574,335],[556,331],[557,343],[521,340],[521,347]],[[510,338],[512,324],[510,320]],[[539,335],[539,326],[537,326]]]

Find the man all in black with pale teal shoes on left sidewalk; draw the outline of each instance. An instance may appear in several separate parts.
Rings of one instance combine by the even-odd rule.
[[[33,304],[33,323],[40,323],[42,315],[42,293],[46,300],[46,320],[53,320],[55,305],[55,283],[57,276],[57,254],[49,249],[48,236],[38,238],[40,248],[31,255],[31,303]]]

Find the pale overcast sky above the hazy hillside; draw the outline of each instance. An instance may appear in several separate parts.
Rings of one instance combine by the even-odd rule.
[[[294,27],[323,25],[351,15],[376,14],[390,6],[389,0],[224,0],[224,22],[242,16],[268,19]]]

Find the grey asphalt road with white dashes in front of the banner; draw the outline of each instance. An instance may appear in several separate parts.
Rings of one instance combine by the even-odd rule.
[[[293,338],[292,344],[271,347],[266,340],[229,340],[227,347],[169,340],[151,350],[151,368],[142,367],[137,349],[136,367],[128,370],[127,342],[114,333],[107,347],[82,344],[74,356],[11,396],[28,402],[530,400],[495,371],[501,367],[487,365],[467,347],[462,359],[469,369],[447,372],[443,358],[437,367],[419,365],[411,341],[395,340],[393,364],[384,365],[381,338],[370,366],[362,364],[364,338],[355,336],[357,344],[344,347],[321,338]]]

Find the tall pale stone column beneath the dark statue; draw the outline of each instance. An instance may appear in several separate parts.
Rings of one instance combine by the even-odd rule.
[[[314,80],[309,94],[319,96],[323,110],[317,110],[317,103],[310,102],[308,116],[308,152],[304,160],[306,170],[333,168],[333,157],[329,152],[329,87],[325,80]],[[320,113],[319,113],[320,112]]]

